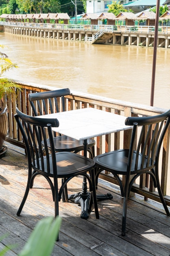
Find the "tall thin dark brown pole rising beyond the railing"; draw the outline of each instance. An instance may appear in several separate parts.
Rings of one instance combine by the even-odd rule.
[[[157,59],[159,7],[160,7],[160,0],[157,0],[156,18],[155,18],[155,36],[154,36],[154,46],[153,46],[153,68],[152,68],[152,85],[151,85],[151,94],[150,94],[150,106],[153,106],[154,89],[155,89],[155,70],[156,70],[156,59]]]

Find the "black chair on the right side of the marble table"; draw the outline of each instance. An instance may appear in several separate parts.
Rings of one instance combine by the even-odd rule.
[[[164,122],[166,122],[165,126]],[[136,178],[144,173],[150,175],[150,182],[153,181],[154,187],[157,187],[166,214],[170,216],[161,191],[158,170],[161,144],[170,124],[170,110],[152,117],[128,117],[125,124],[133,126],[130,148],[114,150],[94,157],[97,167],[96,182],[100,172],[106,170],[116,177],[120,185],[121,195],[124,198],[122,236],[124,236],[126,232],[127,200],[131,187]],[[124,186],[122,185],[119,175],[126,175]],[[133,176],[130,177],[130,175]]]

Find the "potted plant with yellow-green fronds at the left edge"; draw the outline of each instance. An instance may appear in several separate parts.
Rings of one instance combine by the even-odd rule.
[[[3,49],[4,46],[0,45]],[[7,54],[0,51],[0,157],[7,151],[7,147],[4,146],[4,140],[8,130],[8,118],[7,108],[4,106],[4,97],[11,97],[11,94],[17,95],[18,90],[21,90],[21,86],[17,85],[13,81],[10,81],[4,77],[4,73],[8,70],[16,68],[17,65],[12,63]]]

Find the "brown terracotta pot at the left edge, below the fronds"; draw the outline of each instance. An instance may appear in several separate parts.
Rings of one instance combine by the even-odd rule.
[[[7,108],[0,107],[0,155],[3,155],[7,148],[3,145],[8,130]]]

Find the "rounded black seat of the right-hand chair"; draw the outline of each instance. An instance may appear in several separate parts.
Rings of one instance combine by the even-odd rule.
[[[102,155],[97,155],[96,157],[94,157],[94,161],[96,162],[96,166],[102,168],[103,170],[106,169],[107,171],[111,171],[112,173],[115,171],[117,174],[125,175],[127,171],[128,156],[128,149],[120,149],[104,153]],[[131,162],[131,174],[138,173],[138,171],[141,172],[141,169],[146,171],[147,157],[145,158],[144,166],[142,167],[142,154],[139,154],[137,170],[135,170],[135,157],[136,151],[133,152],[133,158]],[[148,169],[150,169],[150,167]]]

